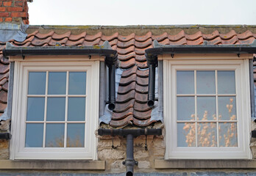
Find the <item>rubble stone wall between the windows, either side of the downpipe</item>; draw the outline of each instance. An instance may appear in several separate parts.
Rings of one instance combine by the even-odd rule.
[[[126,138],[114,136],[112,142],[112,136],[98,137],[98,157],[99,160],[106,161],[106,172],[124,172],[126,168],[122,161],[126,158]],[[134,139],[134,158],[135,161],[138,161],[135,170],[141,172],[154,169],[154,160],[163,159],[166,151],[163,136],[147,136],[147,150],[145,142],[145,136],[138,136]]]

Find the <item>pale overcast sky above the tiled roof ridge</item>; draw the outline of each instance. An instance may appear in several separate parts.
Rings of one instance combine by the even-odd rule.
[[[30,25],[256,25],[256,0],[34,0]]]

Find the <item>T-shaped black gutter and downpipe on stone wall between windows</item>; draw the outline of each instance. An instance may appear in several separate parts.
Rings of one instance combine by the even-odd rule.
[[[133,175],[133,167],[138,165],[133,157],[133,139],[141,135],[162,135],[162,129],[103,129],[99,128],[99,136],[111,135],[111,136],[126,136],[127,137],[127,159],[123,161],[123,164],[127,166],[127,176]]]

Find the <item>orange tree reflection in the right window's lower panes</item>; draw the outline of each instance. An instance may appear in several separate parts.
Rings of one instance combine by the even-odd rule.
[[[233,98],[230,98],[230,103],[227,104],[227,110],[230,114],[230,120],[235,120],[235,114],[232,114],[233,108]],[[205,110],[204,116],[202,120],[207,120],[208,112]],[[191,114],[191,120],[194,120],[195,114]],[[196,117],[199,120],[199,117]],[[213,120],[216,120],[216,114],[213,114]],[[218,116],[218,120],[221,120],[221,115]],[[220,147],[237,147],[237,133],[236,133],[236,123],[229,123],[230,125],[225,125],[225,128],[220,124],[227,124],[227,122],[219,123],[218,131],[219,131],[219,140]],[[224,128],[224,129],[223,129]],[[216,147],[216,122],[198,122],[197,123],[197,135],[198,135],[198,146],[199,147]],[[196,143],[196,125],[193,122],[185,122],[183,127],[185,133],[186,140],[185,142],[188,144],[188,147],[195,147]],[[224,134],[221,136],[221,131]],[[221,139],[224,140],[224,145],[221,145]]]

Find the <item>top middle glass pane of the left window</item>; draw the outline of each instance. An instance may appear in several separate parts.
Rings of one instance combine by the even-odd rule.
[[[48,94],[65,95],[65,72],[49,72]]]

